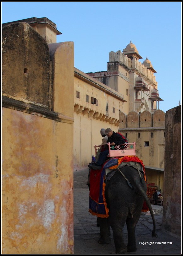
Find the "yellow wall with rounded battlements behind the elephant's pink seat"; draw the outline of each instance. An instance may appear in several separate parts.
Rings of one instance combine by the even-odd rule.
[[[153,114],[149,111],[141,114],[131,111],[128,115],[120,112],[119,132],[127,135],[129,143],[136,143],[136,155],[145,167],[151,168],[146,170],[147,182],[155,183],[163,191],[165,113],[161,110]]]

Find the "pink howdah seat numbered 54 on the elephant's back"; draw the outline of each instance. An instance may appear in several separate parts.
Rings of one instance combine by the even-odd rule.
[[[112,146],[111,143],[107,143],[109,147],[109,154],[107,157],[123,157],[125,155],[136,155],[135,145],[136,143],[125,143],[122,145]],[[97,153],[97,145],[94,145],[95,154]]]

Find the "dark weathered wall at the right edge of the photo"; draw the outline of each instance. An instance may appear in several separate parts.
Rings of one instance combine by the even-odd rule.
[[[181,106],[166,112],[162,228],[181,235]]]

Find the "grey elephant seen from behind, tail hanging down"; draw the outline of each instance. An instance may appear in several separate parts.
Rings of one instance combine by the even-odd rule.
[[[131,166],[119,168],[110,180],[106,180],[105,198],[107,207],[109,208],[109,217],[97,218],[101,236],[98,241],[99,243],[110,243],[109,227],[111,226],[116,254],[135,252],[137,250],[135,226],[139,221],[144,200],[152,216],[152,237],[157,237],[155,219],[146,190],[147,186],[143,175],[140,177],[138,171]],[[128,230],[127,246],[123,241],[123,227],[125,222]]]

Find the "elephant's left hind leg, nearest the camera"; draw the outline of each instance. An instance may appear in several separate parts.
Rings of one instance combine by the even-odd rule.
[[[127,252],[127,246],[123,241],[123,227],[128,216],[128,207],[123,205],[123,209],[113,208],[110,211],[110,226],[113,231],[114,244],[116,248],[116,254],[123,254]]]

